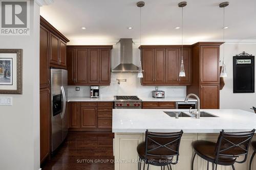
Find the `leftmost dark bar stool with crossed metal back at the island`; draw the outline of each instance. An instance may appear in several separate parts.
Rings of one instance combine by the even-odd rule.
[[[151,164],[161,166],[161,169],[167,166],[168,170],[171,170],[170,164],[177,164],[179,160],[182,134],[182,130],[175,133],[154,133],[146,130],[145,142],[140,143],[137,147],[139,155],[138,169],[141,169],[143,161],[143,169],[145,169],[145,164],[147,164],[147,169]],[[176,156],[175,162],[173,161],[174,156]]]

